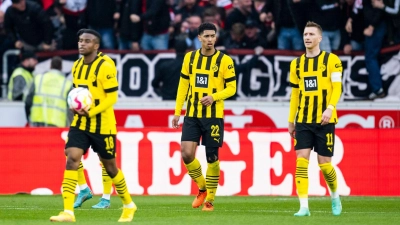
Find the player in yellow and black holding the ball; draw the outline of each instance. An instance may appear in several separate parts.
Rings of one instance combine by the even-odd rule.
[[[96,31],[86,29],[82,32],[78,46],[83,57],[72,68],[74,87],[88,88],[94,104],[89,111],[75,111],[65,145],[67,164],[62,182],[64,211],[50,217],[50,221],[75,222],[73,203],[78,168],[82,155],[91,146],[99,155],[123,202],[123,212],[118,222],[130,222],[137,207],[128,192],[124,174],[117,168],[115,161],[117,129],[113,105],[118,99],[115,69],[97,56],[100,35]]]

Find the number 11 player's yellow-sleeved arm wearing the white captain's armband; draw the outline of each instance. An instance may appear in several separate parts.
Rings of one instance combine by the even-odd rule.
[[[342,62],[339,57],[336,55],[332,55],[331,57],[335,57],[332,60],[332,63],[329,65],[331,72],[331,82],[332,82],[332,95],[329,100],[328,107],[332,109],[336,108],[336,104],[339,102],[340,95],[342,95]]]

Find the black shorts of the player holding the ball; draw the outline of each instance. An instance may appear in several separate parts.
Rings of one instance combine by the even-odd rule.
[[[113,159],[115,158],[117,144],[115,137],[115,134],[94,134],[71,127],[65,148],[81,148],[83,149],[83,154],[85,154],[88,148],[92,146],[93,151],[99,154],[101,158]]]

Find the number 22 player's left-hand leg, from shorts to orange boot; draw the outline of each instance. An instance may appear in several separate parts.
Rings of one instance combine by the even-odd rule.
[[[204,179],[201,165],[196,159],[196,148],[200,142],[201,130],[197,118],[185,117],[182,127],[181,155],[189,176],[197,184],[199,192],[192,202],[193,208],[203,205],[207,196],[206,180]]]

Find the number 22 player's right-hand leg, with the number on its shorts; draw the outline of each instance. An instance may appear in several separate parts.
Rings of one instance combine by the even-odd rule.
[[[205,118],[202,121],[202,144],[206,146],[207,172],[206,172],[206,188],[207,197],[203,207],[203,211],[214,210],[215,194],[217,193],[220,167],[218,150],[222,147],[224,141],[224,121],[219,118]]]

